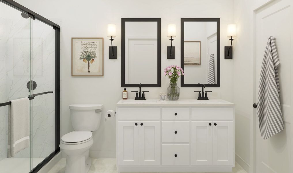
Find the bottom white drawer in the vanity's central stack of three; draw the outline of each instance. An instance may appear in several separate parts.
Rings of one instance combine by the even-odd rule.
[[[189,145],[162,145],[162,165],[189,165]]]

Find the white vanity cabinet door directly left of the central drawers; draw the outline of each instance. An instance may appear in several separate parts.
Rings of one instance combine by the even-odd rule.
[[[139,122],[139,165],[160,165],[160,122]]]

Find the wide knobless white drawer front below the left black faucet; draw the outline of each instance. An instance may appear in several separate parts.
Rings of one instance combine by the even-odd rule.
[[[159,120],[160,108],[119,108],[118,120]]]

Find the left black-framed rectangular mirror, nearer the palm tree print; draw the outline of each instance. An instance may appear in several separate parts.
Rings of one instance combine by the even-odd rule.
[[[122,18],[121,32],[121,87],[161,87],[161,18]]]

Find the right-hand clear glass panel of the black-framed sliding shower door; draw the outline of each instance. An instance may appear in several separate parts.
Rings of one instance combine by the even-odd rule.
[[[31,94],[53,91],[31,100],[31,167],[55,150],[55,30],[38,19],[31,21]]]

